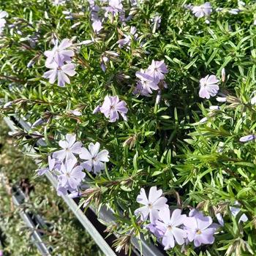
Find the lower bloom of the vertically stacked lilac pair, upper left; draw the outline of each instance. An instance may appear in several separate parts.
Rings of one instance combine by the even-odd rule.
[[[69,76],[74,76],[75,64],[64,64],[59,66],[56,62],[51,64],[45,64],[46,67],[50,68],[44,73],[43,78],[48,78],[49,83],[53,84],[58,79],[58,86],[64,87],[66,83],[70,83]]]

